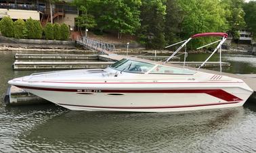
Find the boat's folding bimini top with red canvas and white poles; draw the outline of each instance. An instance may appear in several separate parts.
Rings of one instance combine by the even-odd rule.
[[[228,38],[228,34],[223,33],[223,32],[207,32],[207,33],[201,33],[201,34],[194,34],[193,36],[191,36],[190,38],[188,38],[188,40],[183,40],[181,42],[177,42],[175,44],[171,44],[167,47],[165,47],[165,49],[172,47],[176,44],[180,44],[182,42],[184,42],[182,44],[182,46],[180,46],[163,64],[167,63],[168,61],[170,61],[183,47],[185,47],[185,53],[184,53],[184,67],[185,67],[185,63],[186,63],[186,57],[188,56],[187,53],[187,49],[186,49],[186,44],[188,44],[188,42],[190,42],[190,40],[192,40],[193,38],[198,38],[198,37],[205,37],[205,36],[220,36],[221,40],[217,40],[215,42],[211,42],[210,44],[206,44],[202,47],[198,47],[197,49],[202,49],[204,47],[207,47],[211,44],[215,44],[217,42],[219,42],[219,44],[217,45],[216,49],[213,51],[213,53],[211,53],[211,55],[197,68],[200,69],[203,65],[205,65],[205,63],[207,63],[207,61],[213,56],[213,54],[219,50],[219,66],[220,66],[220,72],[222,71],[221,68],[221,46],[222,44],[226,41],[226,39]]]

